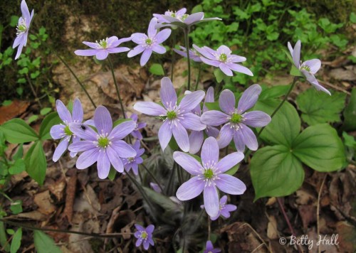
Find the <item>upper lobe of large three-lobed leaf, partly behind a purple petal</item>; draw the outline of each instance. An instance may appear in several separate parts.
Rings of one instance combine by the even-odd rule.
[[[253,110],[260,110],[271,115],[280,103],[281,101],[276,99],[258,101]],[[298,112],[292,104],[285,102],[263,130],[261,139],[268,144],[282,144],[290,147],[299,132],[300,118]]]

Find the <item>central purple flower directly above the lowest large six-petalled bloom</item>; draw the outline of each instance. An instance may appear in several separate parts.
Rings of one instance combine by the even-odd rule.
[[[155,102],[137,102],[134,109],[163,119],[163,124],[158,131],[158,139],[163,151],[173,134],[179,148],[188,152],[187,129],[200,131],[206,128],[206,125],[200,122],[200,117],[191,112],[201,102],[204,95],[205,93],[202,90],[192,92],[185,95],[178,104],[177,94],[171,80],[168,77],[163,77],[160,90],[163,106]]]

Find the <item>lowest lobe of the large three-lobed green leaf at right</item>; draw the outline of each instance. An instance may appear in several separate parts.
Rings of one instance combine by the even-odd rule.
[[[304,181],[302,163],[282,145],[258,149],[251,158],[250,170],[255,200],[290,195]]]

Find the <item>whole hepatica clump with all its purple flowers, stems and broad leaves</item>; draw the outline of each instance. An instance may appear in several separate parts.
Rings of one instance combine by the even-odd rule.
[[[24,0],[21,11],[14,42],[14,47],[19,46],[16,58],[26,46],[33,19],[33,12],[30,15]],[[320,124],[300,132],[298,113],[287,102],[300,78],[331,95],[315,77],[320,60],[300,60],[300,41],[294,48],[288,43],[293,82],[282,100],[268,95],[268,90],[263,90],[258,84],[247,87],[244,92],[224,90],[219,85],[215,89],[209,87],[207,91],[198,90],[198,85],[192,89],[191,61],[219,69],[219,75],[226,77],[256,74],[244,65],[244,56],[236,55],[226,45],[210,48],[209,41],[206,45],[189,41],[189,32],[195,26],[204,26],[200,24],[202,22],[221,22],[221,18],[205,18],[202,12],[187,14],[187,9],[166,11],[153,14],[151,21],[147,22],[147,33],[133,33],[129,38],[108,35],[95,42],[83,41],[88,48],[75,50],[75,55],[108,62],[120,102],[121,119],[112,119],[108,109],[102,105],[97,107],[85,90],[95,107],[93,119],[84,121],[79,99],[68,107],[57,100],[57,112],[43,119],[39,133],[21,119],[12,119],[1,126],[4,139],[10,143],[33,141],[23,163],[28,174],[40,184],[46,174],[42,143],[51,137],[59,140],[56,141],[58,145],[53,161],[58,161],[68,150],[70,157],[76,159],[76,168],[82,170],[95,166],[100,179],[125,174],[142,194],[146,213],[155,223],[146,224],[146,228],[143,227],[145,224],[135,225],[136,247],[154,247],[155,237],[166,237],[163,232],[172,232],[174,249],[179,245],[184,252],[184,247],[197,247],[191,242],[199,242],[206,252],[219,252],[219,249],[214,249],[208,231],[215,220],[229,219],[237,209],[231,203],[230,195],[241,195],[246,191],[246,182],[237,178],[236,171],[239,164],[249,161],[248,156],[251,156],[248,168],[256,199],[286,196],[298,190],[304,178],[303,163],[316,171],[335,171],[342,168],[345,161],[335,129],[328,124]],[[187,58],[186,84],[177,92],[172,80],[162,77],[160,102],[136,102],[133,107],[136,113],[127,114],[110,58],[116,53],[127,52],[129,58],[141,54],[140,65],[144,66],[152,54],[167,52],[167,39],[179,31],[177,29],[184,33],[184,46],[179,45],[179,49],[171,46],[174,52]],[[129,41],[136,44],[134,48],[125,45]],[[69,65],[60,60],[85,89]],[[261,92],[264,92],[263,99],[259,99]],[[146,150],[148,144],[145,144],[141,133],[146,123],[140,121],[140,114],[155,117],[157,124],[161,124],[157,137],[162,151],[157,152],[164,152],[164,156],[170,156],[172,160],[167,178],[161,175],[167,171],[151,170],[150,164],[156,155]],[[145,173],[150,181],[142,179],[141,173]],[[204,216],[209,220],[208,227]],[[194,222],[192,217],[195,217]],[[188,239],[188,235],[192,238],[194,233],[201,235],[199,230],[205,231],[205,228],[205,236]]]

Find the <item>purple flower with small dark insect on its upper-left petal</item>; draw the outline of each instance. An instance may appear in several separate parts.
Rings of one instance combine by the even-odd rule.
[[[76,166],[79,169],[88,168],[98,162],[98,176],[100,179],[108,177],[110,165],[118,172],[124,171],[120,158],[135,157],[136,151],[122,139],[135,129],[135,122],[127,121],[112,129],[110,112],[103,106],[95,109],[94,124],[98,132],[90,126],[70,125],[70,130],[83,141],[70,144],[68,149],[80,152]]]

